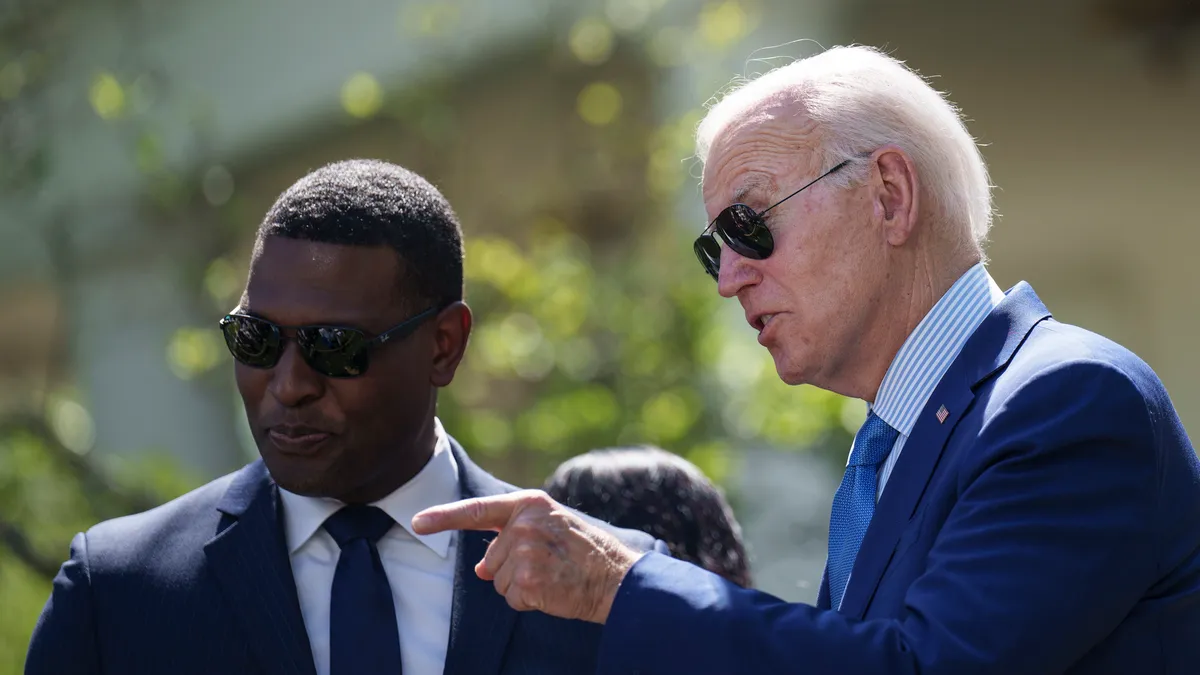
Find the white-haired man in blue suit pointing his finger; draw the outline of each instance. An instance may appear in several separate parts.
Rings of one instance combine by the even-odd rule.
[[[499,530],[476,572],[605,623],[602,674],[1195,673],[1200,460],[1145,363],[992,281],[955,108],[838,48],[726,96],[697,148],[718,291],[785,382],[869,404],[817,607],[629,551],[539,492],[416,530]]]

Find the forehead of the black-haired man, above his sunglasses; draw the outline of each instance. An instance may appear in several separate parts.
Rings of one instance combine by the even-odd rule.
[[[388,246],[266,237],[251,261],[242,309],[286,325],[371,327],[397,301],[400,271]]]

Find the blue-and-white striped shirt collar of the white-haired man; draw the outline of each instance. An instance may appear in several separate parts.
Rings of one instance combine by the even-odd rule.
[[[968,269],[934,304],[896,352],[871,411],[908,436],[967,338],[1003,299],[1004,292],[983,263]]]

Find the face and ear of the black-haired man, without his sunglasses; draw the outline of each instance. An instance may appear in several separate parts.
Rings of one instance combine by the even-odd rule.
[[[240,309],[280,325],[316,321],[378,335],[426,309],[377,282],[389,277],[401,279],[401,267],[386,247],[271,237]],[[433,454],[437,388],[454,378],[470,322],[467,305],[450,300],[409,339],[372,352],[371,370],[388,377],[322,377],[298,350],[271,370],[238,364],[238,390],[275,482],[346,503],[371,503],[408,483]]]

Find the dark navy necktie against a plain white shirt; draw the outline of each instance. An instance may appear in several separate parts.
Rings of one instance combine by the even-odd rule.
[[[401,675],[396,607],[376,548],[395,524],[370,506],[348,506],[325,520],[342,549],[329,603],[330,675]]]

